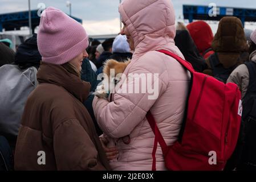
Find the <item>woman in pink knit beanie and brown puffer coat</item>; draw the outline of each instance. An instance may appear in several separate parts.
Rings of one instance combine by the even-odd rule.
[[[80,23],[54,7],[44,10],[38,31],[39,85],[23,112],[15,169],[109,169],[94,123],[82,104],[91,88],[80,79],[87,47],[88,35]]]

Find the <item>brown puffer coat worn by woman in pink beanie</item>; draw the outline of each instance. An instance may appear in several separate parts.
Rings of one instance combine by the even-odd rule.
[[[43,63],[30,94],[15,150],[16,170],[104,170],[108,162],[82,102],[91,85],[62,65]],[[38,156],[44,151],[46,164]]]

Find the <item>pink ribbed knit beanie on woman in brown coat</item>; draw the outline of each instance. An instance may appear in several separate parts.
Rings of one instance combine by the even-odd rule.
[[[42,61],[51,64],[67,63],[89,45],[83,26],[54,7],[43,11],[37,38]]]

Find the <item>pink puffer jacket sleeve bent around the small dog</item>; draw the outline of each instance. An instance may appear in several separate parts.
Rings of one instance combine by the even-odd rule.
[[[129,73],[137,73],[142,76],[150,74],[152,71],[133,67]],[[112,138],[121,138],[131,134],[132,130],[145,119],[145,115],[155,104],[157,98],[166,90],[166,81],[162,80],[162,78],[168,77],[166,74],[168,74],[167,71],[164,71],[161,75],[152,76],[152,82],[147,86],[143,85],[146,84],[145,81],[140,85],[134,75],[128,77],[127,81],[124,81],[127,84],[121,86],[117,84],[113,102],[95,97],[92,106],[101,130]],[[140,93],[125,93],[125,91],[128,92],[127,88],[136,87],[145,89],[145,92],[141,90]],[[153,92],[149,88],[153,88]]]

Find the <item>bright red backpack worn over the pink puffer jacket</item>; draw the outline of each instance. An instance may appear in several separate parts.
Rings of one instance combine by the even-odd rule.
[[[179,139],[167,146],[150,111],[147,119],[155,133],[152,170],[156,170],[156,148],[160,144],[169,170],[222,170],[237,143],[241,115],[238,86],[194,71],[192,65],[169,51],[191,73],[190,90]],[[216,163],[214,162],[216,159]]]

